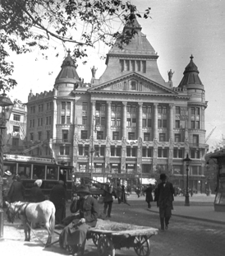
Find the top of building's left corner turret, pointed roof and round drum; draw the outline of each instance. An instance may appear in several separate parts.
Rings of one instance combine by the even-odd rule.
[[[71,91],[76,89],[80,81],[76,72],[76,64],[71,58],[70,53],[69,50],[67,57],[62,62],[61,71],[55,81],[54,88],[57,91],[57,95],[71,95]]]

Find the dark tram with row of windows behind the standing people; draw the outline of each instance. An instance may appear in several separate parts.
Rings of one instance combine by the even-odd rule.
[[[41,189],[46,198],[58,180],[63,180],[67,189],[67,199],[71,199],[72,168],[56,164],[53,158],[3,155],[3,171],[10,170],[12,175],[21,176],[25,187],[25,200],[29,200],[30,189],[36,179],[43,180]]]

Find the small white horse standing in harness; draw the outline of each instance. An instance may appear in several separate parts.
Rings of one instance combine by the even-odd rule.
[[[25,241],[30,241],[30,226],[36,223],[44,223],[48,230],[48,240],[45,246],[51,244],[55,228],[56,208],[53,202],[6,202],[7,221],[13,223],[16,214],[19,215],[25,231]]]

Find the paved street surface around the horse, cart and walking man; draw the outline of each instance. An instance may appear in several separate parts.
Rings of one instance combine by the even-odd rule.
[[[208,199],[208,198],[207,198]],[[182,198],[179,198],[181,201]],[[194,199],[192,199],[194,200]],[[146,207],[144,198],[133,198],[129,201],[131,206],[126,204],[117,204],[115,200],[112,204],[112,218],[111,221],[125,222],[135,224],[138,226],[159,227],[159,218],[157,212],[149,212]],[[177,202],[179,204],[180,202]],[[200,203],[200,202],[199,202]],[[208,202],[201,202],[204,212],[204,204]],[[212,202],[209,202],[212,204]],[[208,203],[208,204],[209,204]],[[181,203],[180,203],[181,204]],[[180,206],[181,207],[181,206]],[[153,210],[157,207],[153,204]],[[100,205],[101,211],[103,205]],[[176,212],[176,202],[175,211]],[[215,212],[213,212],[215,213]],[[19,221],[16,222],[18,226]],[[23,229],[12,229],[5,221],[4,237],[0,244],[2,250],[8,255],[20,253],[21,255],[67,255],[67,251],[60,249],[59,244],[53,244],[51,248],[44,249],[40,240],[45,241],[47,238],[46,230],[34,230],[31,242],[24,242]],[[40,239],[40,240],[39,240]],[[57,240],[57,235],[54,235],[53,240]],[[169,230],[158,231],[158,235],[151,237],[151,256],[223,256],[225,251],[225,222],[224,224],[217,224],[212,221],[196,221],[190,218],[182,218],[172,216]],[[88,240],[85,249],[85,256],[97,256],[97,248],[92,240]],[[116,250],[117,256],[122,255],[136,255],[133,248]]]

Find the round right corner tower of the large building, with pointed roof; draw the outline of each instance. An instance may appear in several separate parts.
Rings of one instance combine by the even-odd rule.
[[[200,81],[198,67],[191,61],[183,72],[184,76],[178,87],[186,88],[188,101],[188,140],[190,142],[191,158],[201,158],[205,149],[204,110],[207,102],[204,98],[204,85]]]

